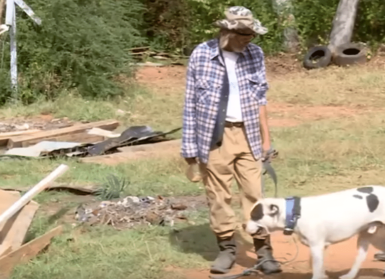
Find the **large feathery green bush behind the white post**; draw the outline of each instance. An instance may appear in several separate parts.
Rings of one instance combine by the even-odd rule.
[[[121,93],[112,77],[129,71],[129,48],[146,43],[139,31],[142,4],[136,0],[30,0],[28,4],[42,24],[37,26],[17,8],[23,101],[41,95],[53,98],[61,87],[77,87],[86,97]],[[4,51],[8,48],[6,43]],[[1,70],[8,70],[9,52],[4,58]],[[0,92],[1,103],[7,95]]]

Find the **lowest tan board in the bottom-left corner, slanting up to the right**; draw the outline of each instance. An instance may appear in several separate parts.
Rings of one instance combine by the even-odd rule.
[[[12,269],[21,263],[26,263],[35,257],[42,249],[44,249],[51,239],[62,233],[62,226],[58,226],[44,235],[22,245],[17,250],[12,251],[0,258],[0,278],[6,278]]]

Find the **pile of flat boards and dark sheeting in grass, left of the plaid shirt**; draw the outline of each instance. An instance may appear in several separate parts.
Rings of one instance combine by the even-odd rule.
[[[52,122],[52,121],[51,121]],[[0,123],[1,124],[1,123]],[[156,144],[171,140],[166,136],[177,132],[181,128],[171,130],[169,132],[154,131],[149,126],[131,126],[126,128],[122,133],[112,132],[119,126],[119,122],[110,119],[91,123],[69,124],[64,119],[55,120],[52,125],[59,125],[54,129],[47,129],[49,125],[39,124],[45,130],[22,130],[30,127],[38,126],[31,123],[17,124],[2,123],[4,131],[9,131],[15,127],[16,131],[1,133],[0,132],[0,159],[9,157],[90,157],[102,156],[113,153],[129,153],[134,150],[120,150],[120,147]],[[52,127],[51,125],[51,127]],[[64,125],[63,128],[61,125]],[[20,128],[20,127],[22,128]],[[20,128],[20,129],[19,129]],[[180,142],[173,143],[180,146]],[[158,144],[157,147],[162,149],[165,145]],[[3,153],[3,154],[1,154]],[[129,156],[128,156],[129,157]],[[126,160],[127,156],[123,156]],[[86,161],[86,160],[85,160]],[[95,161],[95,159],[91,160]],[[112,160],[114,161],[114,160]]]

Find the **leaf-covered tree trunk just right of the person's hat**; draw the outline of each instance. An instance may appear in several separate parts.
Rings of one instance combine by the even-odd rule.
[[[272,0],[272,2],[278,16],[278,23],[285,26],[283,31],[284,48],[288,52],[296,52],[299,42],[291,0]]]

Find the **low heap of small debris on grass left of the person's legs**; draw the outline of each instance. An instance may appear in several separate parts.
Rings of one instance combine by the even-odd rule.
[[[137,225],[173,226],[175,221],[187,221],[183,214],[188,207],[172,198],[127,196],[116,201],[80,205],[77,221],[88,224],[107,224],[123,229]]]

